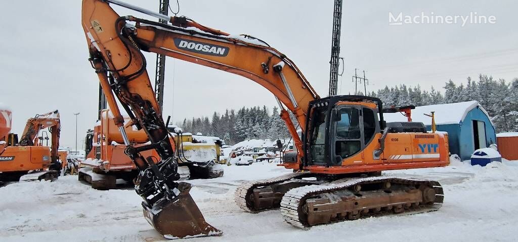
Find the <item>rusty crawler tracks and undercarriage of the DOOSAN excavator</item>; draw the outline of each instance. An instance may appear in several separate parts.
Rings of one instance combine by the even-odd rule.
[[[355,174],[293,173],[242,184],[236,203],[249,212],[280,208],[283,219],[300,229],[317,224],[389,214],[434,211],[443,190],[437,181]]]

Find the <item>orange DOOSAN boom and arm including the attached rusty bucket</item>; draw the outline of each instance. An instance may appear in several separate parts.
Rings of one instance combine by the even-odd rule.
[[[117,4],[168,20],[172,25],[119,16],[110,6]],[[142,196],[145,217],[165,237],[219,235],[205,222],[189,195],[190,184],[178,180],[175,148],[168,139],[159,105],[146,71],[142,51],[234,73],[251,79],[272,92],[281,107],[281,117],[294,138],[298,157],[302,142],[291,122],[289,109],[305,131],[308,104],[319,96],[296,65],[264,41],[250,36],[233,36],[200,25],[184,17],[150,13],[117,0],[83,0],[82,26],[90,50],[90,62],[98,75],[107,103],[126,145],[125,153],[140,170],[136,192]],[[110,73],[111,77],[108,77]],[[133,147],[124,131],[116,98],[132,122],[144,129],[150,145]],[[156,164],[140,151],[155,149]],[[298,169],[300,162],[293,168]],[[178,202],[180,201],[180,202]]]

